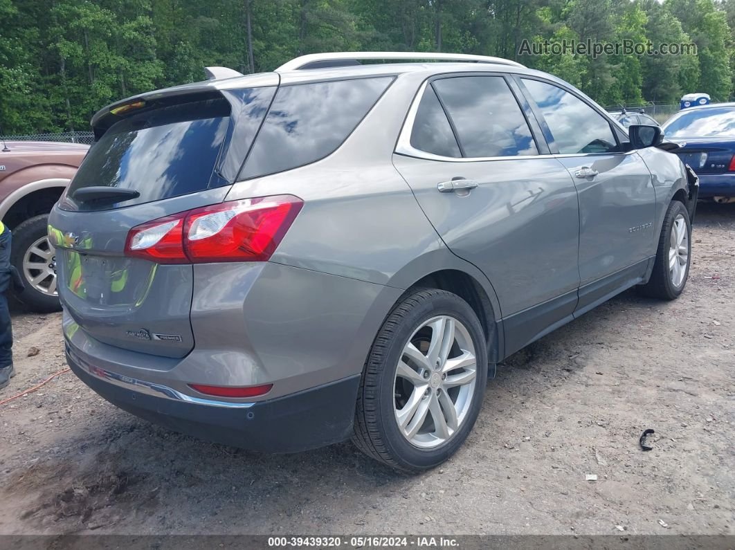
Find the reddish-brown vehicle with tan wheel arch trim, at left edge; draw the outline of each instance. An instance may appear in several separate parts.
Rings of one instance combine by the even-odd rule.
[[[56,254],[47,237],[48,215],[89,145],[16,141],[0,145],[0,220],[12,230],[10,261],[26,286],[15,297],[32,311],[58,311]]]

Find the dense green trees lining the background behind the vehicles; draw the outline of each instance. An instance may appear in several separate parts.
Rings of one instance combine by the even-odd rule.
[[[317,51],[454,51],[517,59],[600,104],[734,87],[735,0],[0,0],[0,124],[87,129],[106,104]],[[696,54],[520,55],[541,43],[688,43]]]

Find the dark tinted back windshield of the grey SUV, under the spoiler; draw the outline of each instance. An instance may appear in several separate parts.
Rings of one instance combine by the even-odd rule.
[[[275,87],[234,90],[226,92],[227,99],[191,101],[126,117],[90,148],[68,197],[76,203],[77,189],[98,186],[140,193],[114,206],[76,205],[97,210],[232,184],[274,92]]]

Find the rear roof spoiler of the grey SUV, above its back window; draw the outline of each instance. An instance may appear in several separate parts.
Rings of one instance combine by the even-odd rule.
[[[209,76],[214,75],[218,79],[182,84],[181,86],[133,95],[132,97],[117,101],[100,109],[91,120],[95,140],[102,137],[110,129],[110,126],[118,122],[118,120],[122,120],[124,117],[132,115],[135,112],[140,112],[143,109],[154,109],[160,106],[182,104],[207,98],[221,98],[223,95],[222,92],[225,90],[278,86],[281,82],[281,77],[278,73],[258,73],[242,76],[237,71],[224,67],[212,67],[208,69],[213,72],[207,74]],[[219,69],[226,69],[232,72],[224,73]]]

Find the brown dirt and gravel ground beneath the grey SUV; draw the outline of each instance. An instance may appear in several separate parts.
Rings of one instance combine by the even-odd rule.
[[[679,300],[626,292],[514,355],[465,446],[417,477],[349,443],[197,441],[60,374],[0,405],[0,534],[735,535],[735,205],[700,204],[693,240]],[[14,323],[0,401],[65,367],[60,315]]]

